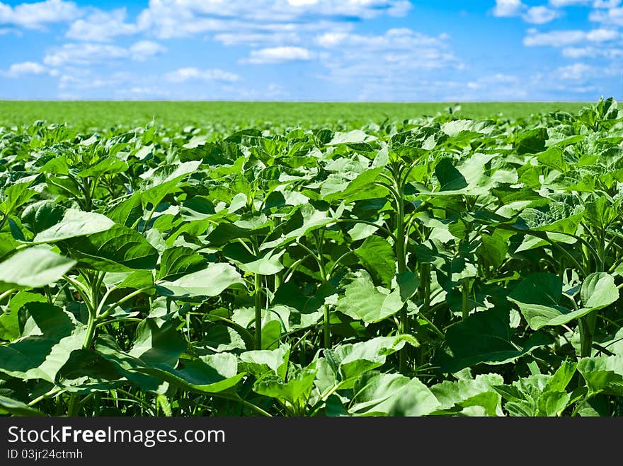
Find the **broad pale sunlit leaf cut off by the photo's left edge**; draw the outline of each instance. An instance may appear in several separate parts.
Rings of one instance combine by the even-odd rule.
[[[76,264],[43,247],[30,247],[0,263],[0,292],[54,284]]]

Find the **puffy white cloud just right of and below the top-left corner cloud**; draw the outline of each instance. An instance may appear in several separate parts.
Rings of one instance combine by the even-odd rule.
[[[109,42],[120,35],[132,35],[137,32],[135,24],[126,23],[127,11],[118,8],[113,11],[96,11],[86,19],[74,21],[65,37],[89,42]]]

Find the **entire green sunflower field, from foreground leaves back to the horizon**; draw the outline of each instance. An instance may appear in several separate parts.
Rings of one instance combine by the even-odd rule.
[[[623,417],[615,100],[19,105],[0,417]]]

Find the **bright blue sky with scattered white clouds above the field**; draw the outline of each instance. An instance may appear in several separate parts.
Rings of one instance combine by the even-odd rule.
[[[0,1],[0,98],[623,98],[622,0]]]

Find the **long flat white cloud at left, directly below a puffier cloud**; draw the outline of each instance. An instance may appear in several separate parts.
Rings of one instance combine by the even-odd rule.
[[[117,45],[92,44],[64,44],[45,55],[43,63],[49,66],[66,66],[76,64],[93,64],[109,62],[111,60],[132,59],[142,62],[164,52],[164,47],[148,40],[136,42],[129,48]]]

